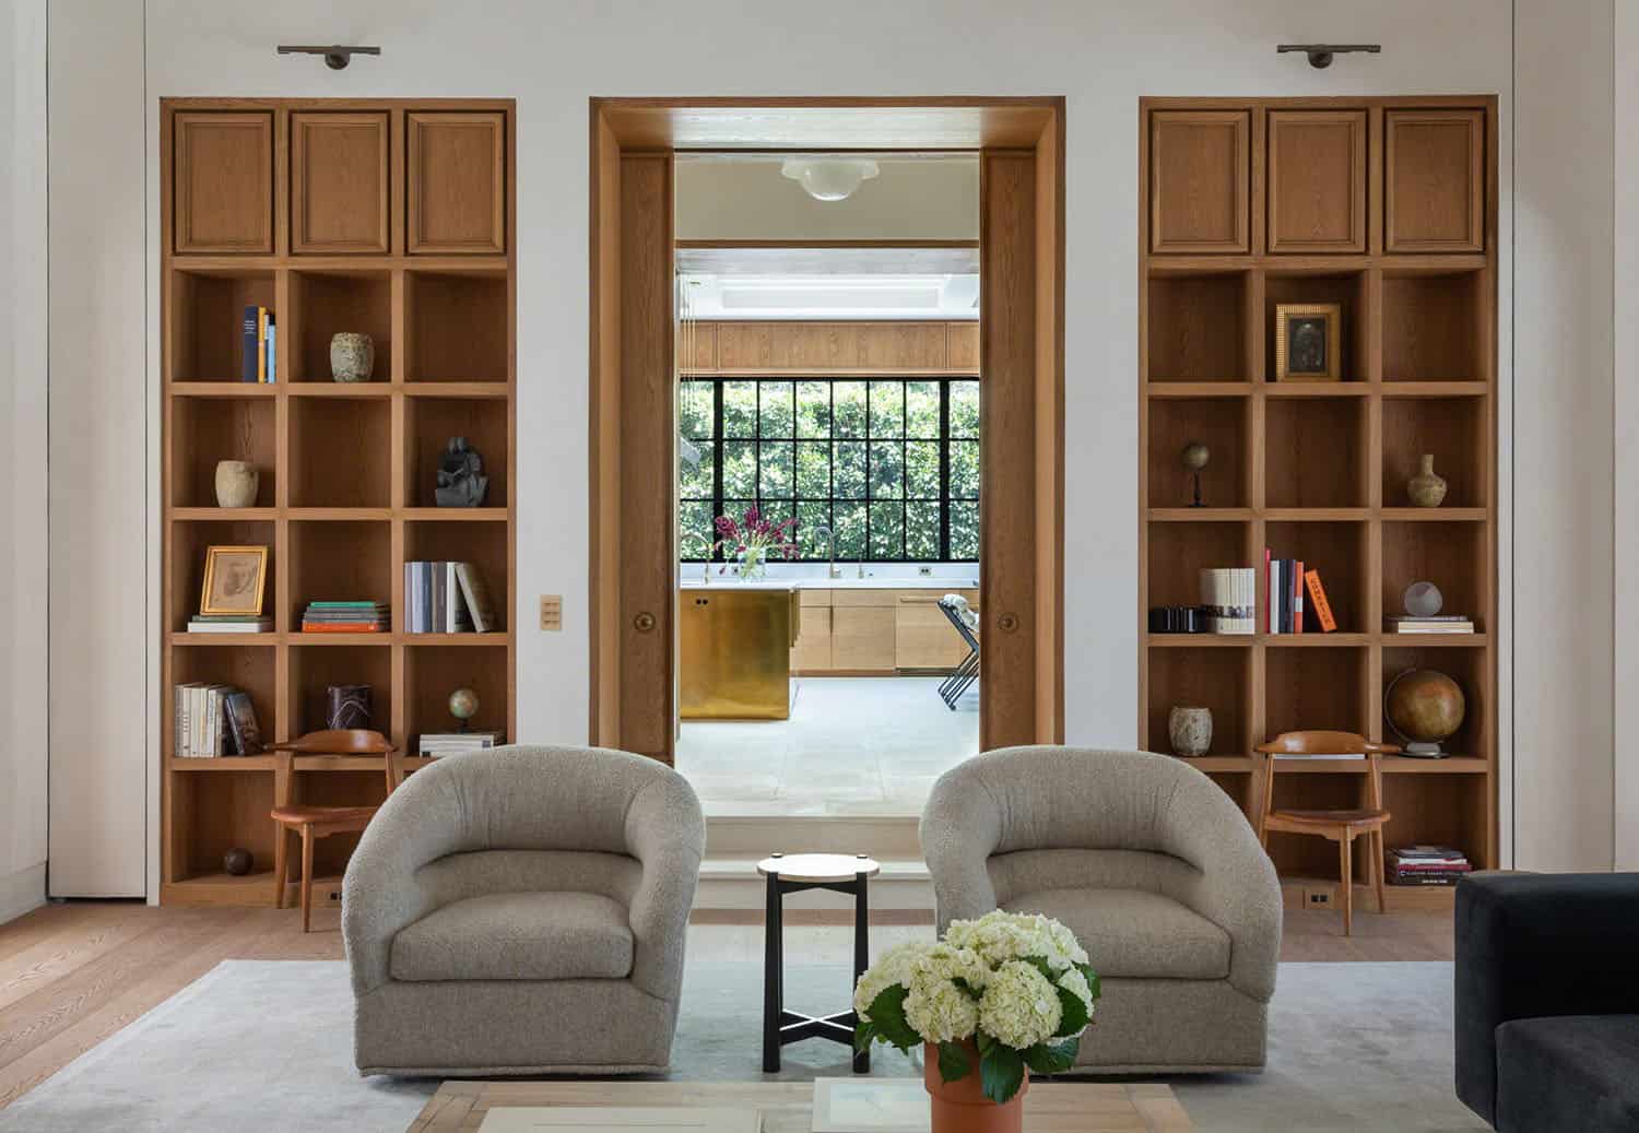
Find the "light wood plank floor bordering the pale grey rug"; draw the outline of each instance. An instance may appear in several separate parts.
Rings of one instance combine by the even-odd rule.
[[[192,984],[225,959],[341,959],[341,913],[275,908],[149,908],[131,902],[48,905],[0,925],[0,1107],[51,1077],[79,1054]],[[1449,913],[1354,918],[1339,936],[1337,913],[1287,915],[1285,961],[1451,959]],[[695,925],[690,956],[760,962],[757,925]],[[874,931],[877,948],[928,926]],[[849,930],[815,926],[811,959],[846,956]],[[797,933],[793,931],[793,936]],[[787,953],[798,951],[798,941]],[[792,956],[788,956],[792,958]],[[841,961],[838,961],[841,962]]]

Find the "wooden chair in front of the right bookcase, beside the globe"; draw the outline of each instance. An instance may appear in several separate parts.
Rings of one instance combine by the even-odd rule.
[[[1318,835],[1337,843],[1337,859],[1342,866],[1342,935],[1354,928],[1354,840],[1367,836],[1367,876],[1377,892],[1377,912],[1383,912],[1383,823],[1390,813],[1383,810],[1383,756],[1400,751],[1393,744],[1372,743],[1352,731],[1283,731],[1269,743],[1259,744],[1264,754],[1264,789],[1259,792],[1257,840],[1269,849],[1269,831],[1292,835]],[[1365,756],[1367,805],[1355,810],[1275,810],[1275,771],[1282,756]]]

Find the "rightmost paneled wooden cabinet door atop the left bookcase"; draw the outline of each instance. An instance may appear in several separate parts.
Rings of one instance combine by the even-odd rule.
[[[416,111],[406,128],[410,253],[505,253],[505,115]]]

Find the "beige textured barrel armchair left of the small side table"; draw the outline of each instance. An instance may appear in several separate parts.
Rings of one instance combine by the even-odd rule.
[[[665,1069],[703,853],[700,802],[652,759],[513,746],[418,771],[343,882],[359,1071]]]

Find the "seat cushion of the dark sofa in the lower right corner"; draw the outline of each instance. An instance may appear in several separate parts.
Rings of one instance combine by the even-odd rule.
[[[1639,1015],[1552,1015],[1498,1026],[1496,1128],[1639,1128]]]

